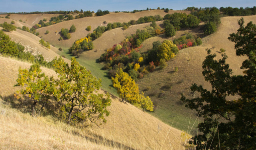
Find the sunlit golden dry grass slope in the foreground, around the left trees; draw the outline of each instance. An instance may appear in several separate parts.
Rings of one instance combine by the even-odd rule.
[[[13,95],[19,66],[31,64],[0,57],[0,95]],[[53,70],[42,68],[47,75]],[[103,91],[100,91],[103,92]],[[112,97],[107,123],[101,128],[77,128],[48,117],[31,117],[28,113],[10,108],[1,100],[1,149],[177,149],[181,131],[175,129],[131,104]],[[9,102],[12,99],[8,99]],[[26,111],[26,110],[24,110]],[[27,110],[29,111],[29,110]],[[26,139],[26,140],[24,140]],[[96,143],[96,144],[95,144]],[[111,146],[106,148],[101,146]]]

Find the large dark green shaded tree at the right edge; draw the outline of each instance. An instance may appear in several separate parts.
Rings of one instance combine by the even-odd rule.
[[[238,24],[228,39],[235,42],[237,56],[246,56],[240,67],[243,74],[232,75],[226,54],[216,60],[208,50],[202,73],[212,90],[193,84],[191,90],[200,96],[181,97],[186,107],[204,117],[198,125],[202,134],[194,137],[197,149],[256,149],[256,25],[244,26],[243,18]]]

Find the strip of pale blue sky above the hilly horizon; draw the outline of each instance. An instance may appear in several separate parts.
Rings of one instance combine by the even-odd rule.
[[[195,7],[253,7],[256,0],[0,0],[0,12],[55,10],[133,11],[147,8],[182,10]]]

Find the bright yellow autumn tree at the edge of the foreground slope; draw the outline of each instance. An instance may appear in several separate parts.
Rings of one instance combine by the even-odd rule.
[[[139,102],[139,87],[128,73],[119,68],[112,81],[122,101],[132,104]]]

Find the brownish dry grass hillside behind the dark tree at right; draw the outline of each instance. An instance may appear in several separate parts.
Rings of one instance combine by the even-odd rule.
[[[190,117],[192,120],[196,118],[195,111],[186,109],[179,99],[181,93],[184,93],[187,97],[196,96],[196,94],[190,91],[192,83],[202,84],[203,87],[208,89],[211,88],[210,84],[204,80],[202,75],[202,62],[207,54],[205,51],[206,48],[211,48],[212,52],[217,54],[217,59],[221,57],[219,49],[226,49],[225,52],[228,56],[227,63],[230,64],[233,73],[242,73],[239,67],[245,57],[237,57],[235,55],[234,43],[227,39],[229,34],[236,32],[238,29],[237,20],[239,18],[239,16],[221,18],[222,23],[217,32],[204,37],[202,39],[202,45],[180,50],[177,56],[168,62],[166,68],[155,71],[138,82],[140,90],[149,89],[145,93],[152,95],[151,98],[157,106],[154,115],[169,124],[174,121],[174,125],[179,126],[179,128],[186,128],[188,125],[188,122],[183,122],[184,118],[187,118],[184,121],[189,120]],[[244,20],[245,23],[248,21],[255,23],[256,16],[244,16]],[[155,38],[159,39],[159,37]],[[178,68],[176,72],[175,67]]]

